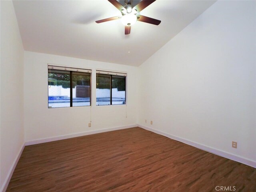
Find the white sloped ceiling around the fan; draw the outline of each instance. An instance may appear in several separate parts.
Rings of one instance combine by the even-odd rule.
[[[121,15],[107,0],[13,2],[25,50],[139,66],[215,1],[156,0],[140,14],[160,25],[136,22],[130,35],[121,20],[95,22]]]

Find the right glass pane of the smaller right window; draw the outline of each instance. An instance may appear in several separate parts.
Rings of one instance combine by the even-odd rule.
[[[125,104],[125,78],[112,75],[112,105]]]

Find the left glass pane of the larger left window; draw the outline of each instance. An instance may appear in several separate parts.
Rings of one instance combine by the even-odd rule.
[[[48,70],[48,108],[70,107],[70,72]]]

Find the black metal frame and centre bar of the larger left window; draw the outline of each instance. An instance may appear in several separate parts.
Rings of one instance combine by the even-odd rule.
[[[49,70],[55,70],[55,69],[50,69],[48,68],[48,75],[49,75]],[[90,105],[88,106],[73,106],[73,81],[72,81],[72,74],[75,71],[72,70],[62,70],[62,69],[57,69],[58,71],[69,71],[70,74],[70,106],[68,107],[49,107],[49,87],[48,87],[48,109],[55,109],[55,108],[70,108],[70,107],[91,107],[92,106],[92,73],[91,72],[80,72],[80,73],[85,73],[85,74],[90,74]],[[79,70],[79,69],[77,69]],[[86,70],[86,69],[82,69],[82,70]],[[63,74],[67,74],[67,73],[63,73]],[[49,78],[48,78],[48,86],[49,86]]]

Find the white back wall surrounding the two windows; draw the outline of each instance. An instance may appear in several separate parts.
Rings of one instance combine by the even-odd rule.
[[[90,107],[48,109],[48,63],[92,69],[92,126]],[[126,106],[96,106],[96,68],[117,70],[127,76]],[[137,67],[25,51],[24,115],[25,140],[39,140],[134,125],[137,122]]]

